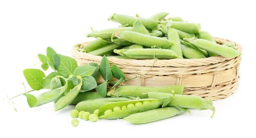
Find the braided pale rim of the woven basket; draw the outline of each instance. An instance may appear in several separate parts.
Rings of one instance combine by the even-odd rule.
[[[237,50],[242,53],[242,47],[240,44],[237,42],[234,42],[229,39],[225,38],[218,38],[214,37],[217,43],[224,44],[225,42],[233,42],[235,44],[235,47]],[[84,45],[87,44],[88,42],[83,43]],[[76,58],[76,60],[79,59],[86,59],[86,60],[91,60],[94,62],[100,62],[102,56],[95,56],[91,55],[88,53],[83,53],[77,51],[78,47],[75,45],[71,49],[72,56]],[[116,58],[116,57],[107,57],[110,64],[117,64],[117,65],[127,65],[129,63],[130,65],[136,65],[136,66],[152,66],[154,63],[154,59],[146,59],[146,60],[137,60],[137,59],[124,59],[124,58]],[[240,58],[234,57],[234,58]],[[227,58],[224,56],[213,56],[213,57],[208,57],[208,58],[200,58],[200,59],[169,59],[169,60],[161,60],[157,59],[157,62],[155,62],[154,67],[189,67],[189,66],[202,66],[202,65],[209,65],[209,64],[216,64],[219,62],[223,62],[225,60],[231,60],[234,58]]]

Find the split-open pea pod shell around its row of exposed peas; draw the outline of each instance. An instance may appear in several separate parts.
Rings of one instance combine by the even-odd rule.
[[[127,116],[130,116],[131,114],[148,111],[148,110],[152,110],[152,109],[157,109],[162,105],[162,103],[166,99],[167,98],[157,100],[157,99],[149,99],[148,98],[148,99],[128,100],[128,101],[110,103],[107,105],[103,105],[101,108],[99,108],[99,118],[101,118],[101,119],[125,118]],[[113,109],[114,107],[122,107],[124,105],[127,106],[128,104],[135,105],[135,103],[137,103],[137,102],[144,102],[144,101],[148,101],[148,103],[146,103],[144,105],[139,105],[137,107],[135,106],[135,107],[131,107],[131,108],[122,109],[119,111],[114,111],[109,114],[105,114],[105,111],[107,111],[108,109]]]

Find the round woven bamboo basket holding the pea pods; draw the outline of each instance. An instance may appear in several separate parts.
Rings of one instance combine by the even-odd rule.
[[[222,38],[214,39],[218,44],[233,42]],[[83,43],[80,48],[87,44],[88,42]],[[242,52],[242,47],[236,42],[234,44],[238,51]],[[99,64],[101,62],[101,56],[82,53],[77,51],[77,48],[79,47],[75,46],[71,53],[78,65],[86,65],[89,62]],[[126,79],[139,76],[124,82],[124,85],[185,85],[183,94],[211,98],[212,100],[227,98],[234,93],[238,88],[240,78],[241,56],[236,58],[215,56],[202,59],[171,60],[135,60],[109,57],[108,60],[110,65],[115,64],[124,71]],[[142,75],[145,73],[146,75]],[[112,81],[117,80],[113,78]],[[97,82],[104,82],[104,80],[99,76]]]

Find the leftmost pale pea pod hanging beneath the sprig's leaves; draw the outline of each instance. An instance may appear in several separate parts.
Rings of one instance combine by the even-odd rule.
[[[59,87],[59,88],[56,88],[56,89],[53,89],[53,90],[50,90],[50,91],[46,91],[44,93],[39,94],[36,97],[37,101],[36,101],[35,107],[46,104],[48,102],[52,102],[52,101],[58,99],[59,97],[61,97],[62,96],[61,88],[62,87]]]

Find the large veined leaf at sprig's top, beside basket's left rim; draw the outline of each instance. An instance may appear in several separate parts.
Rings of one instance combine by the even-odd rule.
[[[54,54],[54,67],[58,72],[62,72],[65,75],[73,75],[74,70],[77,68],[77,63],[74,58],[63,56],[61,54]]]

